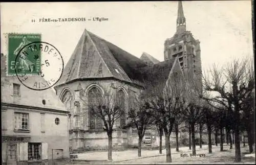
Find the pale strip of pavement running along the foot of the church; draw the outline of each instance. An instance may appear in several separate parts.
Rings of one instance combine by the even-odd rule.
[[[219,147],[219,146],[218,146]],[[216,146],[212,146],[212,148],[217,148]],[[202,149],[199,146],[196,146],[196,151],[200,150],[208,150],[208,145],[202,145]],[[180,147],[179,152],[176,152],[176,148],[171,149],[172,154],[179,154],[184,152],[192,152],[188,147]],[[126,161],[126,160],[134,160],[134,159],[142,159],[147,157],[155,157],[155,156],[163,156],[166,155],[166,150],[162,150],[162,154],[159,154],[159,150],[141,150],[141,157],[138,157],[138,150],[126,150],[126,151],[114,151],[112,152],[112,159],[115,162],[118,161]],[[78,160],[108,160],[108,152],[92,152],[92,153],[79,153],[77,154]]]

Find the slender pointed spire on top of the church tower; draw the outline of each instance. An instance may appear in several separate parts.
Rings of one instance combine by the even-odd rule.
[[[186,18],[184,17],[182,2],[179,1],[178,3],[178,16],[177,16],[177,32],[176,33],[183,33],[186,31]]]

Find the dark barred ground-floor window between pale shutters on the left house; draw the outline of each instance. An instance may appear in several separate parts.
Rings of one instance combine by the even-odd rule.
[[[28,158],[29,160],[41,159],[41,143],[29,143],[28,144]]]

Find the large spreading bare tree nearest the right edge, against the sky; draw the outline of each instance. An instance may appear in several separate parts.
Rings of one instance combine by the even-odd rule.
[[[234,141],[236,147],[235,155],[237,162],[241,161],[239,140],[240,112],[242,110],[241,104],[243,102],[243,98],[254,89],[254,75],[248,76],[246,71],[247,65],[247,60],[233,60],[221,69],[218,69],[217,66],[214,65],[210,70],[211,78],[206,74],[203,76],[205,90],[216,91],[219,93],[218,96],[210,99],[204,99],[224,106],[232,112],[232,116],[236,121],[233,123],[232,127],[234,130]]]

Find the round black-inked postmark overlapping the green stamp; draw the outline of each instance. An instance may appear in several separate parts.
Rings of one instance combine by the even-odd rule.
[[[18,80],[33,90],[51,88],[59,81],[63,67],[63,58],[55,46],[42,41],[25,45],[15,58]]]

